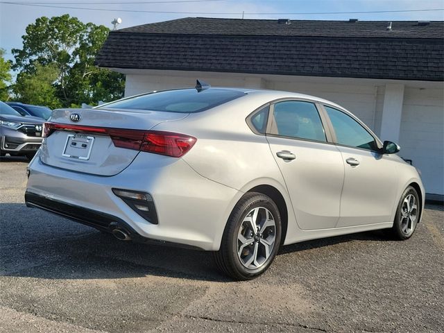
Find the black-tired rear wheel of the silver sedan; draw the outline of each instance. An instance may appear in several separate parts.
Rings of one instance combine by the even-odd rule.
[[[246,227],[246,225],[250,224],[244,221],[248,218],[249,213],[252,213],[255,208],[258,208],[257,221],[260,220],[259,223],[262,222],[262,226],[264,226],[264,223],[266,221],[264,216],[268,214],[266,210],[271,213],[271,216],[268,217],[272,218],[268,219],[268,221],[272,221],[272,223],[274,222],[275,224],[274,226],[270,225],[264,228],[263,234],[260,233],[260,230],[257,230],[257,234],[253,234],[253,232],[251,232],[250,230],[253,227]],[[256,221],[255,225],[257,225]],[[248,239],[248,242],[252,241],[252,239],[254,241],[253,244],[250,244],[249,246],[243,248],[241,255],[238,255],[239,230],[241,230],[241,232],[247,232],[248,234],[250,234],[249,237],[245,238]],[[230,278],[233,278],[234,280],[251,280],[253,278],[256,278],[258,275],[261,275],[267,270],[267,268],[273,262],[276,254],[278,253],[280,247],[281,233],[282,222],[280,219],[280,213],[278,210],[278,206],[276,206],[273,200],[271,200],[271,198],[265,196],[264,194],[259,194],[255,192],[245,194],[241,198],[241,200],[239,200],[232,213],[230,214],[230,218],[228,219],[227,225],[225,226],[225,230],[223,232],[221,248],[219,249],[219,251],[214,252],[214,260],[216,262],[216,266],[222,273],[230,276]],[[273,237],[273,247],[270,251],[270,247],[267,246],[269,255],[266,258],[266,245],[263,244],[262,241],[269,242],[270,239],[273,239]],[[261,257],[259,257],[259,259],[261,260],[259,266],[257,266],[256,268],[248,268],[247,266],[245,266],[245,264],[248,264],[248,260],[246,260],[246,262],[244,263],[241,261],[241,256],[244,254],[244,251],[246,251],[247,253],[246,258],[247,255],[251,253],[251,251],[253,251],[253,253],[251,253],[251,257],[255,256],[255,253],[262,253]],[[250,259],[251,257],[248,257],[248,259]],[[257,255],[255,257],[256,259],[254,259],[254,262],[250,264],[250,266],[255,265],[256,262],[259,262],[259,259],[257,259]]]

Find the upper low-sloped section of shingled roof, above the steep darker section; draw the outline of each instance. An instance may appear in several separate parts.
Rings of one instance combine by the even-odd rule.
[[[186,35],[255,35],[309,37],[384,37],[384,38],[443,38],[444,22],[429,22],[420,26],[416,21],[392,22],[387,31],[386,21],[289,21],[278,24],[277,19],[214,19],[187,17],[172,21],[143,24],[119,30],[122,33],[167,33]]]

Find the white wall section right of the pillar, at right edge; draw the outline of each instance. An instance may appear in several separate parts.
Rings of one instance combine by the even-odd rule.
[[[420,169],[425,191],[444,194],[443,89],[406,87],[400,128],[400,155]]]

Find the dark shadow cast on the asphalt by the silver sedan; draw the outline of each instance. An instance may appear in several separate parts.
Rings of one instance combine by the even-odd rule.
[[[212,253],[119,241],[111,234],[42,210],[27,209],[22,203],[0,204],[0,221],[3,276],[87,280],[156,275],[231,281],[216,270]],[[392,239],[382,231],[361,232],[284,246],[280,255],[356,240]]]

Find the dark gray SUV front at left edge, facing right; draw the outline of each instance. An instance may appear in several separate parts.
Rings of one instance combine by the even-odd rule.
[[[44,119],[23,117],[0,101],[0,156],[22,155],[33,158],[42,144]]]

